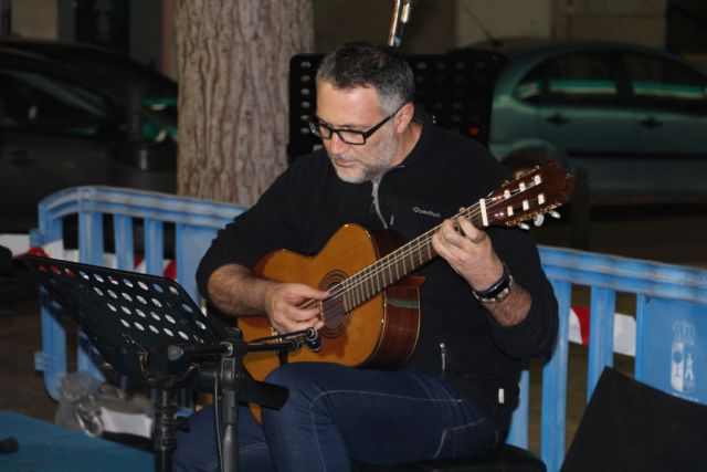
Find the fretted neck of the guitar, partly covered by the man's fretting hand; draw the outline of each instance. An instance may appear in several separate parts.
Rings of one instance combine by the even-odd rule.
[[[469,219],[476,228],[488,225],[487,223],[485,224],[486,218],[483,199],[474,206],[458,212],[453,218],[456,220],[460,217]],[[432,247],[432,237],[440,227],[441,224],[432,228],[424,234],[401,245],[373,264],[344,280],[340,284],[342,291],[339,295],[342,297],[345,310],[350,311],[361,305],[363,302],[378,295],[386,287],[394,284],[436,258],[437,253]]]

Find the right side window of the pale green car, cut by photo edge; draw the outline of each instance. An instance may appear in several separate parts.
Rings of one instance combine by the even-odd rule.
[[[707,78],[682,64],[646,54],[624,54],[639,105],[707,109]]]

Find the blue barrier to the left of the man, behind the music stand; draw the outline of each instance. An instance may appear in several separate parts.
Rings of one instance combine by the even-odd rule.
[[[199,300],[194,274],[217,231],[243,207],[168,193],[136,191],[112,187],[75,187],[53,193],[39,204],[39,230],[31,234],[33,248],[44,248],[49,255],[63,259],[63,227],[66,217],[78,216],[78,261],[107,265],[104,251],[104,216],[113,219],[115,268],[134,270],[135,234],[141,227],[145,272],[162,275],[165,248],[177,265],[177,281],[194,300]],[[173,230],[166,239],[166,225]],[[42,352],[34,356],[38,370],[44,371],[44,385],[54,399],[60,396],[60,381],[66,374],[66,332],[61,311],[52,310],[42,296]],[[102,376],[94,353],[80,335],[77,369]]]

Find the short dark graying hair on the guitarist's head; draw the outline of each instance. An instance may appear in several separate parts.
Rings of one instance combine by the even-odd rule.
[[[317,71],[317,85],[323,82],[341,90],[376,88],[386,114],[397,112],[415,95],[408,61],[388,46],[365,42],[344,44],[327,54]]]

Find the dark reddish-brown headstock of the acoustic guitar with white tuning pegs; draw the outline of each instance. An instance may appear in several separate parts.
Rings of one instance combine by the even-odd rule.
[[[541,219],[570,199],[574,178],[557,164],[504,183],[484,199],[488,225],[514,227]]]

